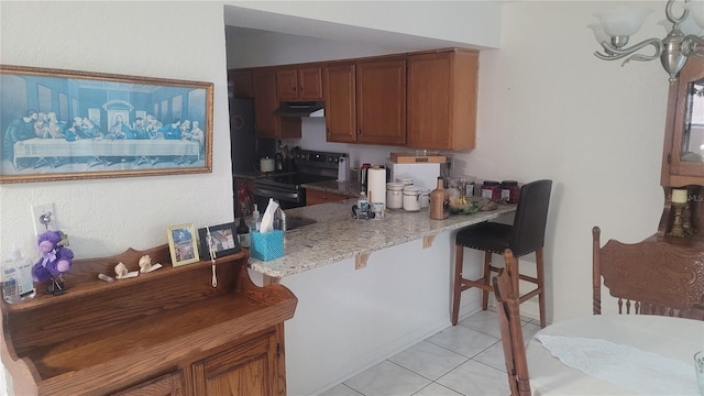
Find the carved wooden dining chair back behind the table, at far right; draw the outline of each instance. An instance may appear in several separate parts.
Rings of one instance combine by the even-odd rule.
[[[604,287],[617,298],[618,314],[661,315],[704,320],[704,253],[648,239],[626,244],[601,230],[593,237],[593,311],[602,312]]]

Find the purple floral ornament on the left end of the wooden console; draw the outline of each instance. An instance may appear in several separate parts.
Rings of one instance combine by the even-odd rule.
[[[65,293],[63,274],[70,270],[74,252],[64,246],[64,235],[61,231],[45,231],[37,238],[37,245],[42,257],[32,267],[34,282],[52,280],[48,292],[53,295]]]

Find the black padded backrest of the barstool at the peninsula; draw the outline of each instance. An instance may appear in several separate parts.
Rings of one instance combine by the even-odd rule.
[[[508,243],[516,257],[543,246],[551,190],[552,180],[548,179],[531,182],[520,188]]]

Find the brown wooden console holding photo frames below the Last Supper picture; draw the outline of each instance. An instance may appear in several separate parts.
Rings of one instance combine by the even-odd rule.
[[[150,254],[164,267],[106,283]],[[168,246],[74,262],[67,293],[2,301],[2,363],[16,395],[285,395],[284,321],[297,298],[257,287],[248,253],[172,267]]]

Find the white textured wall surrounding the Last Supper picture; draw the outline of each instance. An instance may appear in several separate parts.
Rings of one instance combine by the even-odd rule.
[[[222,4],[0,2],[3,64],[215,82],[213,172],[0,186],[0,251],[35,255],[30,206],[54,202],[77,257],[166,243],[166,227],[232,221]]]

